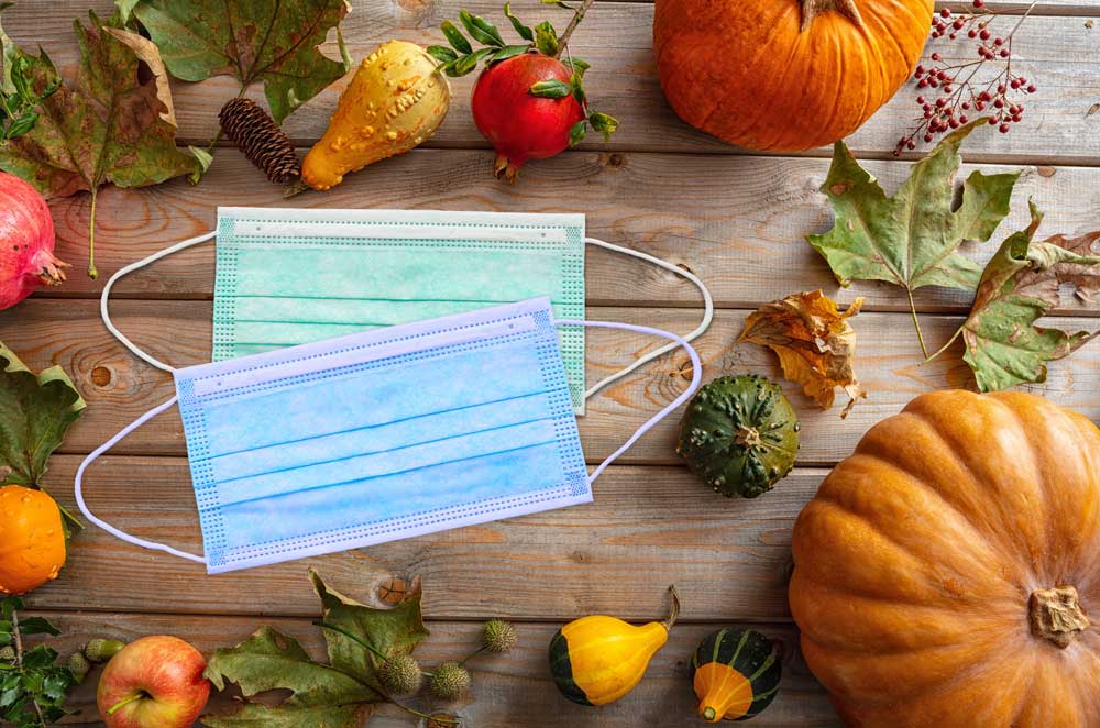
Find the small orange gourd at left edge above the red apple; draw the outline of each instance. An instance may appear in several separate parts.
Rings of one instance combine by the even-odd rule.
[[[0,487],[0,594],[26,594],[65,565],[62,511],[47,494]]]

